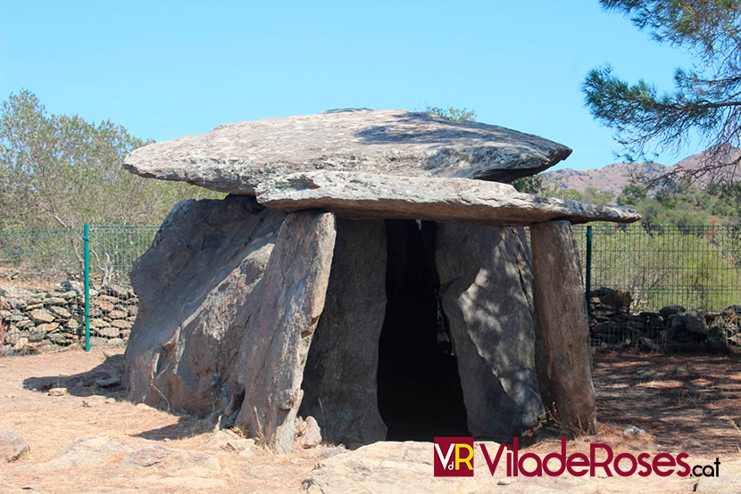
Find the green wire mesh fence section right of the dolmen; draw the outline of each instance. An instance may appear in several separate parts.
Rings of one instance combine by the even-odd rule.
[[[741,227],[605,223],[574,226],[574,234],[591,285],[594,347],[741,346]]]

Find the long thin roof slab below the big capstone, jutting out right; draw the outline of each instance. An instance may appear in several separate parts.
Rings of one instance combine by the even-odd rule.
[[[281,210],[329,210],[343,218],[429,219],[494,226],[632,223],[631,208],[519,193],[512,185],[468,178],[389,177],[315,171],[275,177],[257,187],[257,201]]]

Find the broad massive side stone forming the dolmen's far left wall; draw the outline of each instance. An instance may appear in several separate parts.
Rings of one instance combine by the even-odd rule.
[[[252,293],[284,218],[246,196],[175,206],[131,271],[130,399],[207,415],[240,392],[235,363]]]

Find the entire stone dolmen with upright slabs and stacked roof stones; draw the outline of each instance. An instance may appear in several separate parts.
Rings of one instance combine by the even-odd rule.
[[[410,111],[337,110],[149,144],[125,167],[229,193],[179,202],[134,264],[129,399],[290,452],[324,439],[596,430],[571,225],[634,210],[518,193],[571,150]]]

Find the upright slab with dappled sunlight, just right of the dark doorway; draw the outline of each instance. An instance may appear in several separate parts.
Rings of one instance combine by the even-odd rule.
[[[470,433],[512,440],[543,411],[525,231],[440,223],[436,262]]]

